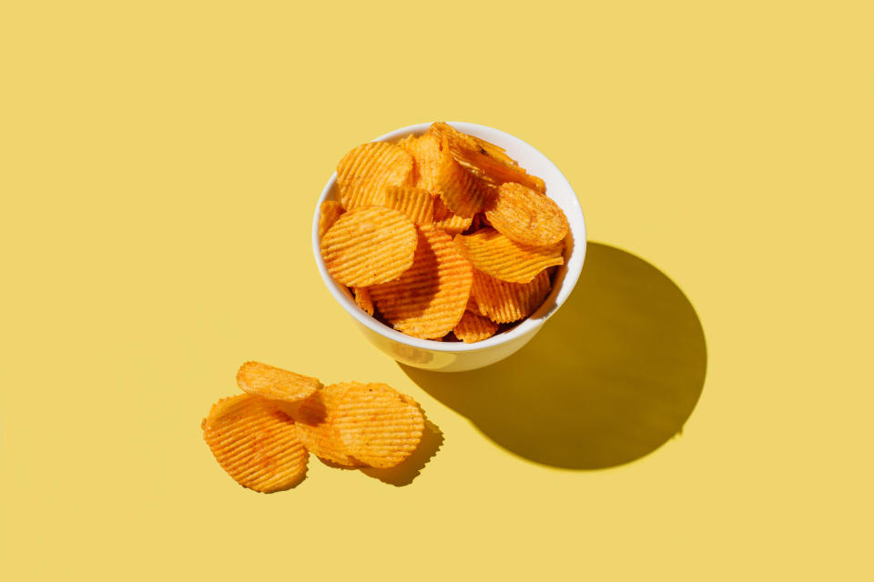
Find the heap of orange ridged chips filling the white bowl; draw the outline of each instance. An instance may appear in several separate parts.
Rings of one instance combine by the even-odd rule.
[[[320,208],[325,266],[409,336],[491,337],[534,313],[564,264],[569,226],[544,181],[452,125],[353,148],[337,186]]]

